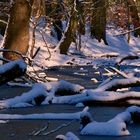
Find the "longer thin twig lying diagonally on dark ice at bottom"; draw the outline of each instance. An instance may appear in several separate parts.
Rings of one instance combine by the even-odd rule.
[[[50,134],[52,134],[52,133],[55,133],[56,131],[62,129],[63,127],[67,127],[67,126],[71,125],[74,121],[75,121],[75,120],[72,120],[72,121],[70,121],[70,122],[68,122],[68,123],[64,123],[64,124],[58,126],[56,129],[53,129],[53,130],[51,130],[51,131],[49,131],[49,132],[46,132],[46,133],[43,133],[42,135],[43,135],[43,136],[47,136],[47,135],[50,135]]]

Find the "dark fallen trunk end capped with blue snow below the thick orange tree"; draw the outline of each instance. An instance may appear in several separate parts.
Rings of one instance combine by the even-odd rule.
[[[0,85],[14,80],[26,72],[26,64],[23,60],[10,61],[0,66]]]

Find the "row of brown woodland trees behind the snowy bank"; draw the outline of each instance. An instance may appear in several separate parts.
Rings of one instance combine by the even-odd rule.
[[[1,0],[2,1],[2,0]],[[0,7],[0,33],[7,33],[3,47],[16,50],[26,54],[29,48],[29,20],[32,17],[44,17],[45,25],[53,28],[51,34],[60,41],[60,53],[67,54],[72,42],[80,51],[81,37],[90,28],[90,36],[101,40],[107,45],[106,27],[111,24],[115,28],[131,30],[140,26],[139,1],[134,0],[14,0],[11,5],[9,1],[2,1]],[[4,4],[6,6],[4,6]],[[10,9],[10,11],[9,11]],[[6,12],[5,12],[6,11]],[[4,13],[3,13],[4,12]],[[38,24],[37,24],[38,25]],[[35,34],[35,33],[34,33]],[[140,35],[140,29],[134,30],[134,35]],[[4,53],[7,59],[18,59],[13,53]]]

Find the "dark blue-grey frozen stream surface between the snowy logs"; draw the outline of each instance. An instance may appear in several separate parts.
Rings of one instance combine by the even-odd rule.
[[[102,72],[104,72],[101,69]],[[102,73],[101,72],[101,73]],[[46,70],[47,76],[55,77],[58,79],[64,79],[69,82],[83,85],[85,88],[95,88],[101,80],[106,79],[107,75],[98,74],[98,69],[92,66],[80,66],[80,67],[52,67]],[[98,83],[93,83],[91,78],[96,78]],[[8,87],[3,85],[0,87],[0,99],[11,98],[21,93],[28,91],[27,88]],[[47,112],[77,112],[82,108],[76,108],[72,105],[47,105],[31,108],[19,108],[19,109],[4,109],[0,110],[0,113],[6,114],[32,114],[32,113],[47,113]],[[108,121],[120,112],[123,112],[125,107],[90,107],[96,121]],[[58,134],[65,134],[68,131],[76,134],[80,140],[139,140],[140,139],[140,124],[131,124],[128,126],[130,136],[125,137],[104,137],[104,136],[81,136],[79,135],[79,122],[75,121],[68,127],[62,128],[59,131],[50,134],[48,136],[31,136],[30,133],[34,130],[39,130],[44,125],[49,127],[45,132],[49,132],[52,129],[57,128],[63,123],[67,123],[66,120],[10,120],[6,124],[0,124],[0,139],[1,140],[55,140],[55,136]]]

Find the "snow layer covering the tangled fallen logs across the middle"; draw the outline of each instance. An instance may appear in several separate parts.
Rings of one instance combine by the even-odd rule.
[[[122,79],[122,81],[129,83],[130,81],[139,81],[139,78],[132,78],[132,79]],[[116,83],[121,82],[119,79],[115,81]],[[110,82],[111,83],[111,82]],[[112,82],[113,84],[113,82]],[[35,105],[34,99],[38,96],[44,96],[44,101],[41,103],[42,105],[55,103],[55,104],[77,104],[76,106],[80,107],[83,106],[82,102],[86,101],[117,101],[120,99],[127,99],[127,98],[140,98],[140,92],[135,91],[127,91],[123,92],[113,92],[113,91],[104,91],[106,87],[110,85],[109,83],[98,87],[97,89],[84,89],[84,87],[80,85],[71,84],[66,81],[58,81],[58,82],[50,82],[46,84],[34,84],[32,90],[21,94],[20,96],[1,100],[0,107],[1,108],[11,108],[11,107],[28,107]],[[59,90],[64,90],[66,92],[66,96],[56,96],[55,92]],[[77,92],[78,94],[75,95],[67,95],[67,92],[71,90],[72,92]],[[79,104],[78,104],[79,103]],[[131,104],[138,104],[140,102],[131,103]]]

